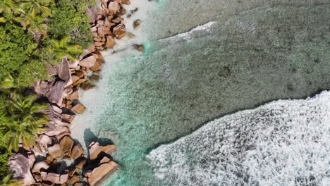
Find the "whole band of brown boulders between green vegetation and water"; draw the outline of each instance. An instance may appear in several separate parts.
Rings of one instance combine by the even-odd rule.
[[[86,109],[78,100],[79,89],[92,89],[99,80],[102,63],[105,63],[101,51],[112,49],[116,44],[114,38],[126,35],[123,4],[128,5],[130,1],[102,0],[99,6],[90,7],[87,14],[93,44],[78,61],[63,57],[60,64],[47,65],[47,71],[54,78],[34,83],[35,92],[49,102],[49,109],[44,111],[49,116],[49,125],[38,135],[32,150],[21,147],[10,158],[13,178],[23,180],[23,185],[97,185],[119,167],[110,156],[116,151],[114,144],[91,142],[88,156],[84,156],[85,150],[70,135],[70,124],[76,113]],[[138,27],[140,20],[134,24]],[[143,50],[142,45],[137,44],[135,48]]]

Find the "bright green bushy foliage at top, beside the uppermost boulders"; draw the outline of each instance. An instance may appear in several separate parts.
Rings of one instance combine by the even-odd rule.
[[[53,16],[49,23],[53,38],[59,39],[70,35],[71,44],[80,44],[87,48],[92,43],[90,20],[85,14],[85,8],[88,6],[90,6],[89,1],[56,1],[56,6],[51,7]]]

